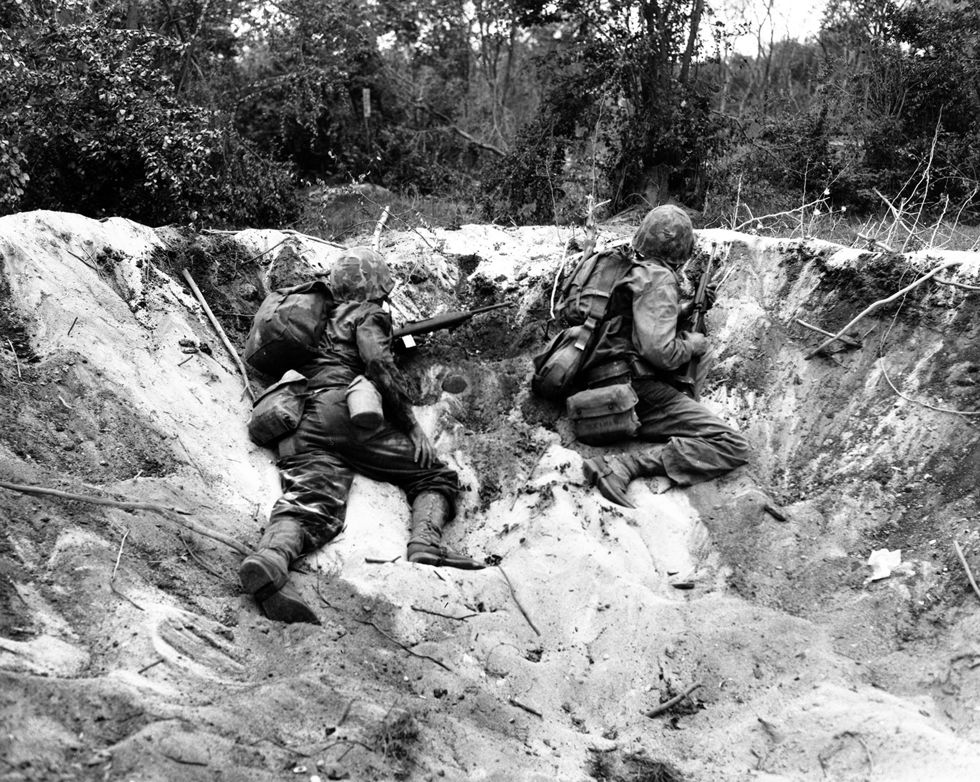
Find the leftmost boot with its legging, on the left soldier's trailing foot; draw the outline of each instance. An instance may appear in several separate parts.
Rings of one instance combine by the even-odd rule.
[[[289,580],[289,564],[303,552],[303,527],[291,518],[275,522],[259,542],[259,550],[238,568],[242,588],[273,621],[312,622],[319,617]]]

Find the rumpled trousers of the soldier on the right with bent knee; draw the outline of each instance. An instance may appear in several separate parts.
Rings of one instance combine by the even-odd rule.
[[[695,386],[701,386],[711,368],[713,351],[702,359]],[[665,443],[662,464],[667,477],[690,486],[722,475],[749,461],[749,442],[717,415],[669,383],[654,378],[634,378],[633,390],[640,398],[637,436]]]

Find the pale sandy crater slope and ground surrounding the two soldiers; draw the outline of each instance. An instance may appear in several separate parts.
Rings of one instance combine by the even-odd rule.
[[[954,546],[980,571],[976,257],[699,232],[692,269],[713,247],[724,275],[706,402],[753,462],[635,481],[627,511],[528,390],[567,238],[385,235],[396,320],[514,304],[401,360],[466,484],[448,542],[501,567],[404,562],[404,496],[358,478],[295,574],[323,623],[286,626],[178,523],[254,545],[278,493],[182,272],[240,350],[270,289],[342,250],[0,219],[0,481],[20,487],[0,488],[0,779],[980,775],[980,603]],[[950,261],[805,358],[824,337],[800,321],[835,332]]]

